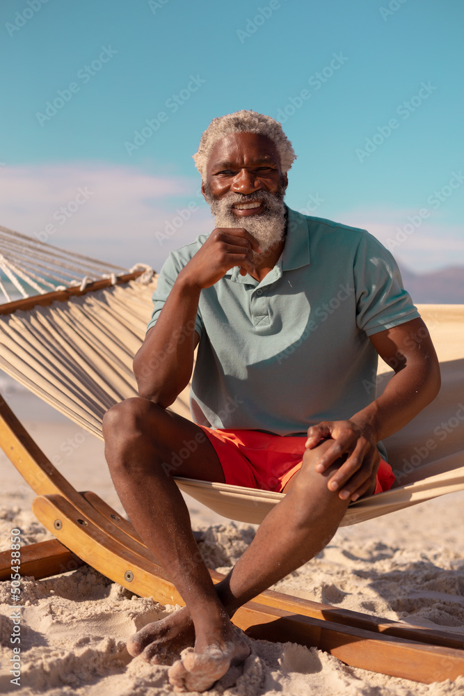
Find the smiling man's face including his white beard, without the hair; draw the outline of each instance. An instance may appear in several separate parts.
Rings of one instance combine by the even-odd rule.
[[[245,228],[263,253],[285,234],[282,175],[274,143],[255,133],[233,133],[211,150],[202,185],[216,227]]]

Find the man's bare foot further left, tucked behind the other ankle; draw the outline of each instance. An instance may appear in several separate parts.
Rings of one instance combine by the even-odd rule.
[[[127,651],[152,665],[171,663],[180,652],[195,642],[195,628],[186,607],[174,614],[143,626],[127,641]]]

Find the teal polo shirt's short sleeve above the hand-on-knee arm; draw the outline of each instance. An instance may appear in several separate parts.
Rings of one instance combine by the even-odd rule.
[[[398,264],[378,239],[362,232],[354,261],[356,323],[368,336],[420,317]]]

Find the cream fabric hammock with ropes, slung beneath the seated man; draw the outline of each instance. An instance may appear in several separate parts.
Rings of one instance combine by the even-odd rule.
[[[110,271],[109,264],[44,243],[40,243],[41,258],[35,267],[30,256],[27,269],[21,269],[11,255],[8,260],[14,246],[11,240],[18,248],[24,244],[31,248],[35,242],[6,228],[0,230],[10,245],[3,251],[1,267],[10,264],[6,275],[12,283],[10,276],[19,269],[23,280],[27,271],[27,277],[40,285],[38,264],[45,265],[47,260],[53,260],[57,269],[77,268],[73,282],[68,283],[68,287],[75,286],[72,290],[60,287],[46,293],[42,283],[41,296],[0,306],[0,367],[77,425],[102,438],[105,411],[137,395],[132,361],[145,336],[157,275],[142,264],[131,274],[118,267]],[[87,265],[79,267],[83,260]],[[89,267],[99,269],[91,282]],[[135,276],[138,278],[129,280]],[[95,278],[99,280],[94,282]],[[33,287],[29,280],[25,282]],[[424,305],[419,312],[438,348],[442,390],[412,423],[385,440],[399,487],[351,503],[342,525],[464,489],[464,306]],[[392,374],[387,369],[385,365],[379,368],[376,381],[380,389]],[[170,410],[191,420],[189,387]],[[367,389],[374,393],[374,384]],[[282,493],[227,484],[181,478],[176,482],[182,491],[219,514],[250,523],[260,523],[283,497]]]

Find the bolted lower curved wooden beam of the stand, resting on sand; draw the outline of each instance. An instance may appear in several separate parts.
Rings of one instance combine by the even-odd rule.
[[[141,559],[129,548],[84,519],[58,495],[39,496],[33,512],[65,546],[79,547],[79,555],[97,571],[141,596],[161,603],[184,604],[158,564]],[[259,600],[259,597],[257,597]],[[285,608],[248,602],[233,618],[253,638],[298,642],[318,647],[353,666],[415,679],[423,683],[456,679],[464,674],[464,651],[427,645],[385,634],[315,619]],[[419,632],[420,635],[420,632]]]

